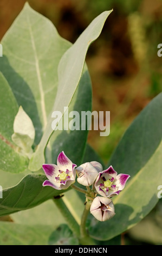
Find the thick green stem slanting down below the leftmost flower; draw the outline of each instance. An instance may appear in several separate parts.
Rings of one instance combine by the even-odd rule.
[[[80,237],[80,229],[79,224],[75,221],[72,214],[68,210],[66,204],[64,204],[63,200],[61,198],[54,198],[54,203],[56,204],[57,208],[59,208],[62,216],[67,221],[67,224],[69,225],[69,228],[73,231],[74,235],[77,236],[77,238]]]

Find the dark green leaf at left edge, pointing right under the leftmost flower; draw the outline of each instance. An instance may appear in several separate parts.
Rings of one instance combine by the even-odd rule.
[[[0,199],[0,216],[27,210],[65,191],[43,187],[45,175],[28,174],[16,186],[5,188]]]

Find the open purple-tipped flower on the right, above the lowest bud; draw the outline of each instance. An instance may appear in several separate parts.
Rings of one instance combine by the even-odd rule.
[[[117,175],[116,171],[110,166],[108,169],[99,173],[95,182],[95,189],[103,197],[113,197],[119,194],[125,187],[128,174]]]

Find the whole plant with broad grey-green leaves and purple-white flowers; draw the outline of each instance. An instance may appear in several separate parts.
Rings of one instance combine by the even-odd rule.
[[[0,216],[12,222],[1,221],[0,244],[116,243],[158,203],[161,94],[106,164],[87,144],[87,130],[68,130],[66,122],[62,131],[51,129],[54,111],[59,124],[64,107],[91,111],[85,57],[109,14],[96,17],[72,45],[26,3],[1,41]]]

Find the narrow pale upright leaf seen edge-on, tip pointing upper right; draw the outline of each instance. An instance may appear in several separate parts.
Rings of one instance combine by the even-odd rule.
[[[51,112],[60,111],[64,114],[64,106],[68,107],[72,101],[75,90],[79,84],[85,57],[89,45],[98,38],[102,27],[111,11],[105,11],[96,17],[86,30],[76,40],[60,60],[58,68],[59,86],[55,98],[54,107]],[[60,118],[61,120],[61,118]],[[59,120],[58,120],[59,121]],[[44,149],[53,130],[51,129],[51,115],[47,122],[40,144],[29,162],[30,170],[38,170],[44,162]],[[41,160],[41,161],[40,161]]]

